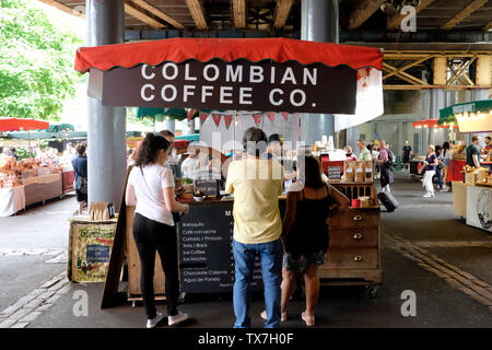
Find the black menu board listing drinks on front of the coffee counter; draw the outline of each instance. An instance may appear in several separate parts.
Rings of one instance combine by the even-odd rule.
[[[190,206],[179,222],[180,290],[187,293],[231,292],[234,285],[233,202]],[[255,262],[251,290],[259,290],[261,270]]]

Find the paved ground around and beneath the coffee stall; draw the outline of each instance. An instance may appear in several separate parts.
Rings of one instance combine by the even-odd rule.
[[[317,327],[492,327],[492,235],[454,218],[453,195],[426,199],[418,182],[396,176],[394,213],[383,209],[384,284],[375,299],[361,288],[323,288]],[[65,278],[67,219],[73,198],[0,218],[0,327],[142,327],[143,308],[122,300],[101,310],[103,283],[74,284]],[[37,249],[37,250],[36,250]],[[30,254],[30,255],[27,255]],[[50,262],[46,262],[50,261]],[[403,291],[417,296],[417,316],[403,317]],[[79,315],[80,291],[89,313]],[[251,304],[253,326],[261,327],[261,294]],[[159,308],[165,311],[164,304]],[[231,327],[231,295],[190,295],[180,310],[187,327]],[[290,304],[284,327],[303,327],[303,301]],[[75,312],[74,312],[75,311]],[[184,325],[185,326],[185,325]]]

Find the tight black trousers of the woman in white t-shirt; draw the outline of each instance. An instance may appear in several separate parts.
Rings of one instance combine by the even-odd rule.
[[[161,257],[162,269],[166,279],[167,315],[177,315],[179,296],[179,278],[177,260],[176,228],[150,220],[139,213],[134,215],[133,238],[141,262],[140,289],[147,317],[155,317],[154,306],[154,266],[155,250]]]

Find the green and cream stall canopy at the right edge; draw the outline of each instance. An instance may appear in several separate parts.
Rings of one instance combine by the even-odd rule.
[[[440,125],[457,124],[460,132],[492,131],[492,100],[459,103],[440,110]]]

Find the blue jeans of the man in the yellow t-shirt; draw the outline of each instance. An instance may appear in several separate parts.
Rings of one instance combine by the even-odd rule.
[[[235,328],[248,328],[251,325],[249,318],[249,303],[251,300],[250,283],[255,269],[255,256],[259,254],[261,276],[265,287],[265,306],[268,319],[266,328],[280,327],[280,301],[282,292],[282,255],[283,247],[280,240],[261,244],[243,244],[233,240],[233,253],[235,260],[234,282],[234,313],[236,315]]]

